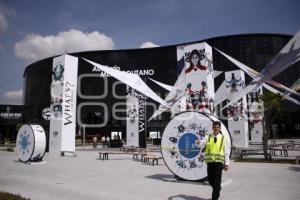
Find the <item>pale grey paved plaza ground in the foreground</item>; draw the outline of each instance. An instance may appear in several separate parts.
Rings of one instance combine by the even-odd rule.
[[[0,190],[31,200],[206,200],[207,184],[174,182],[163,160],[159,165],[133,161],[132,155],[98,159],[96,151],[77,157],[46,154],[40,164],[17,161],[16,152],[0,151]],[[221,200],[299,200],[300,165],[231,162],[224,172]]]

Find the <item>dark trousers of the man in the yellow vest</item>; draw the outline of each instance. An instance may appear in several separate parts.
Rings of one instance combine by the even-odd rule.
[[[223,167],[223,163],[220,162],[207,163],[208,182],[213,188],[212,200],[219,199]]]

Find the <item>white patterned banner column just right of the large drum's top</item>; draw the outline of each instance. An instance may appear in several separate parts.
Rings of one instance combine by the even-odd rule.
[[[241,70],[225,72],[225,86],[227,98],[232,99],[245,86],[244,72]],[[232,136],[232,145],[235,147],[248,147],[249,144],[246,109],[246,96],[227,108],[228,129]]]

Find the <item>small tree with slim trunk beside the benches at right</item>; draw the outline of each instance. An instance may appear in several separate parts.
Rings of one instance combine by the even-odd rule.
[[[260,100],[264,103],[263,120],[263,151],[265,160],[268,159],[268,139],[272,129],[272,123],[276,117],[283,112],[283,96],[272,92],[266,92],[260,95]]]

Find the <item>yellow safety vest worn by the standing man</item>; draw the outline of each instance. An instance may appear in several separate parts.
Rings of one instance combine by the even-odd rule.
[[[206,143],[205,149],[205,160],[206,163],[211,162],[225,162],[225,152],[224,152],[224,136],[219,134],[217,135],[217,142],[214,143],[214,135],[209,135]]]

